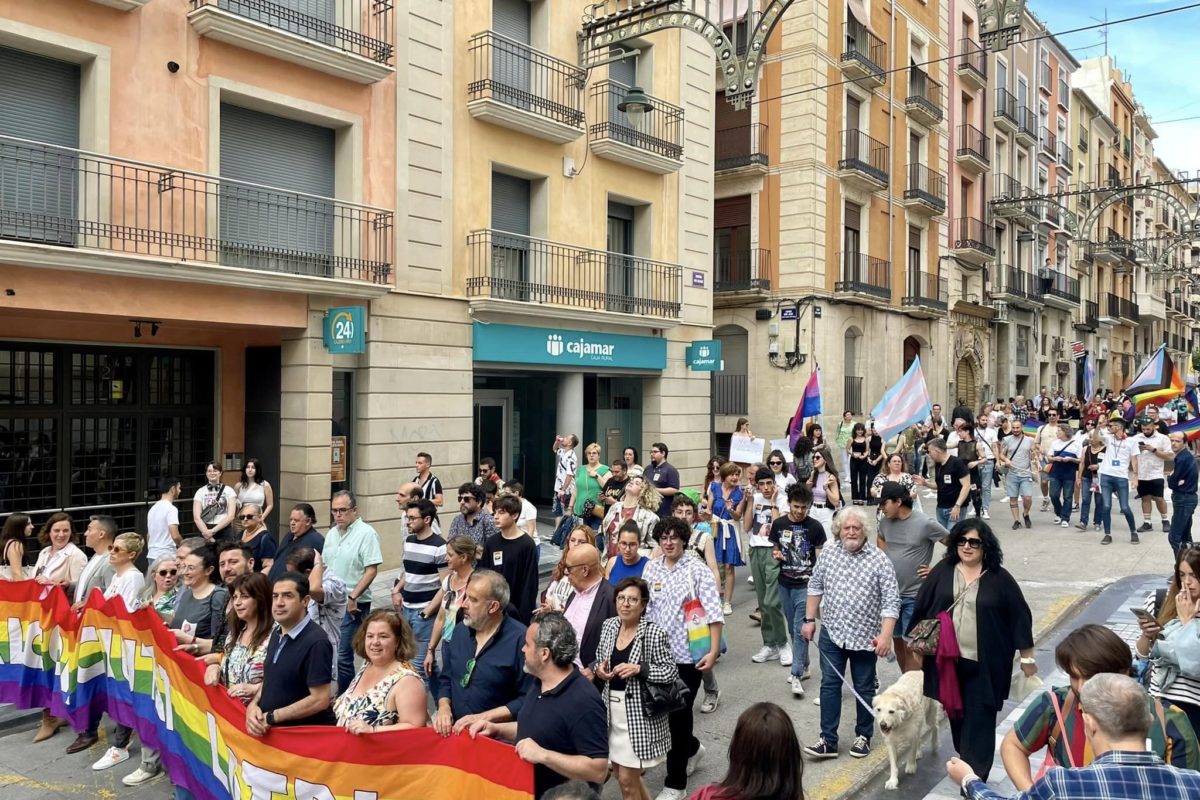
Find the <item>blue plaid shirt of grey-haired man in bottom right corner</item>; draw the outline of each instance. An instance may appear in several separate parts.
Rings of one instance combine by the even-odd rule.
[[[1109,751],[1090,766],[1052,769],[1025,792],[1004,798],[983,781],[967,784],[971,800],[1194,800],[1200,772],[1168,766],[1146,752]]]

